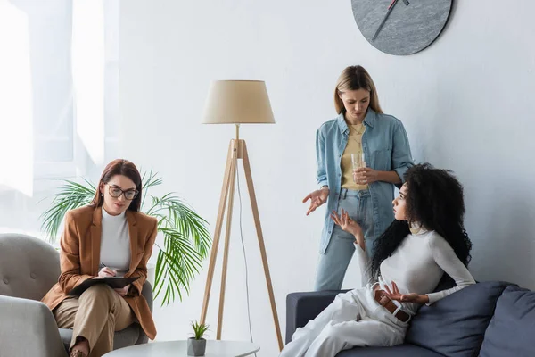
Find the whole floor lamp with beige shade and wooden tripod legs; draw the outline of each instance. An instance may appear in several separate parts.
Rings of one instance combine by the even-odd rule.
[[[256,201],[256,195],[252,184],[251,165],[249,155],[247,154],[247,145],[245,140],[240,139],[240,124],[274,124],[275,119],[269,104],[268,91],[266,84],[259,80],[218,80],[212,82],[208,95],[206,107],[204,110],[203,124],[235,124],[236,138],[230,141],[228,154],[226,156],[226,169],[221,188],[221,197],[219,200],[218,218],[216,229],[213,237],[213,245],[210,253],[210,265],[208,277],[204,290],[204,300],[202,302],[201,322],[206,321],[206,312],[210,302],[210,290],[214,277],[214,268],[218,256],[219,237],[226,209],[226,232],[225,247],[223,252],[223,268],[221,272],[221,287],[219,294],[219,311],[218,311],[218,330],[216,338],[221,339],[221,329],[223,327],[223,309],[225,304],[226,288],[226,267],[228,262],[228,245],[230,238],[230,228],[232,221],[232,209],[235,194],[236,167],[238,161],[243,162],[243,170],[251,198],[252,216],[254,225],[259,239],[260,255],[264,266],[264,274],[268,285],[269,302],[275,321],[276,338],[279,349],[283,349],[283,339],[281,337],[281,328],[279,326],[278,315],[276,313],[275,297],[273,295],[273,286],[271,285],[271,276],[269,274],[268,256],[264,245],[264,237],[260,226],[259,208]],[[227,205],[227,207],[226,207]]]

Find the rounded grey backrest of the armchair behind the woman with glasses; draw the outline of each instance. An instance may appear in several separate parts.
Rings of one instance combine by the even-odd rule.
[[[41,300],[60,276],[60,254],[43,240],[0,234],[0,295]]]

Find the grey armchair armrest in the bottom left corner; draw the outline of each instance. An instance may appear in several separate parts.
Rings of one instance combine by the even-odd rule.
[[[53,314],[44,303],[0,295],[0,355],[67,355]]]

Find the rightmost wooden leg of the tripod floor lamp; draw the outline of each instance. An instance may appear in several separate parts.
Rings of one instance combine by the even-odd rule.
[[[256,201],[256,194],[252,183],[251,164],[249,162],[249,154],[247,154],[247,145],[243,143],[243,169],[245,171],[245,179],[247,180],[247,188],[249,189],[249,197],[251,198],[252,216],[254,218],[254,225],[256,227],[257,236],[259,238],[260,254],[262,256],[262,263],[264,266],[264,274],[266,275],[266,284],[268,285],[269,302],[271,303],[271,311],[273,311],[273,320],[275,321],[276,339],[279,345],[279,351],[283,350],[283,338],[281,336],[281,328],[279,326],[278,314],[276,312],[275,295],[273,294],[273,286],[271,284],[271,275],[269,274],[268,255],[266,254],[266,246],[264,245],[264,236],[262,234],[262,227],[260,225],[259,206]]]

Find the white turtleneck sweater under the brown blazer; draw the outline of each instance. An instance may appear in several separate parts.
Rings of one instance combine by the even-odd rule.
[[[103,210],[101,262],[122,277],[130,265],[130,234],[126,212],[112,216]]]

